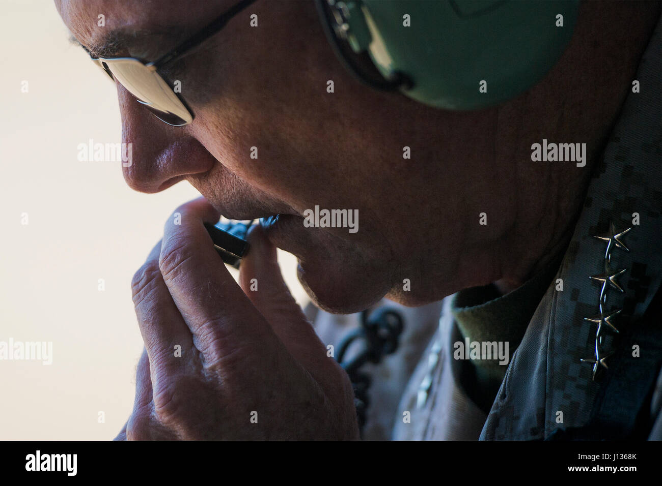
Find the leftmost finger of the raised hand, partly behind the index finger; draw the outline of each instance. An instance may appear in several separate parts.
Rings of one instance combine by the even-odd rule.
[[[155,379],[181,372],[195,359],[191,331],[161,275],[160,251],[159,243],[136,272],[131,284],[140,334]]]

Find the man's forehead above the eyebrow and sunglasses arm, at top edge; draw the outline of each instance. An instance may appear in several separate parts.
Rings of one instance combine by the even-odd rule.
[[[120,50],[124,48],[138,56],[173,47],[218,17],[233,5],[233,0],[56,0],[55,3],[71,34],[91,52],[98,55],[109,40],[120,39]],[[103,26],[99,26],[99,15],[103,15]],[[169,34],[171,45],[163,46]],[[123,45],[132,43],[133,46]]]

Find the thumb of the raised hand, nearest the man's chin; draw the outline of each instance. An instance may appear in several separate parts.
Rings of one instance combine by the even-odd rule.
[[[326,358],[326,347],[293,298],[277,261],[276,248],[256,225],[248,234],[250,251],[242,260],[239,282],[285,347],[301,364]]]

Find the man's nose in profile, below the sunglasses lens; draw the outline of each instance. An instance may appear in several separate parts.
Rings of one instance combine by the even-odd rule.
[[[139,192],[160,192],[188,175],[209,171],[216,159],[191,137],[186,127],[169,126],[117,86],[122,142],[131,160],[122,163],[124,180]],[[131,145],[128,145],[128,144]]]

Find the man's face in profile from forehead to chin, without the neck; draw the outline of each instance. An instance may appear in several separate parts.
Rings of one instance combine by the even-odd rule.
[[[235,1],[56,5],[93,54],[156,60]],[[100,14],[105,26],[97,26]],[[326,309],[363,309],[410,276],[398,262],[408,239],[402,211],[412,204],[400,187],[414,115],[402,106],[414,103],[349,77],[312,2],[256,2],[164,76],[181,81],[195,114],[188,126],[167,126],[117,84],[132,188],[158,192],[185,179],[227,218],[280,214],[267,234],[298,257],[301,282]],[[358,210],[358,231],[305,227],[302,216],[315,206]]]

